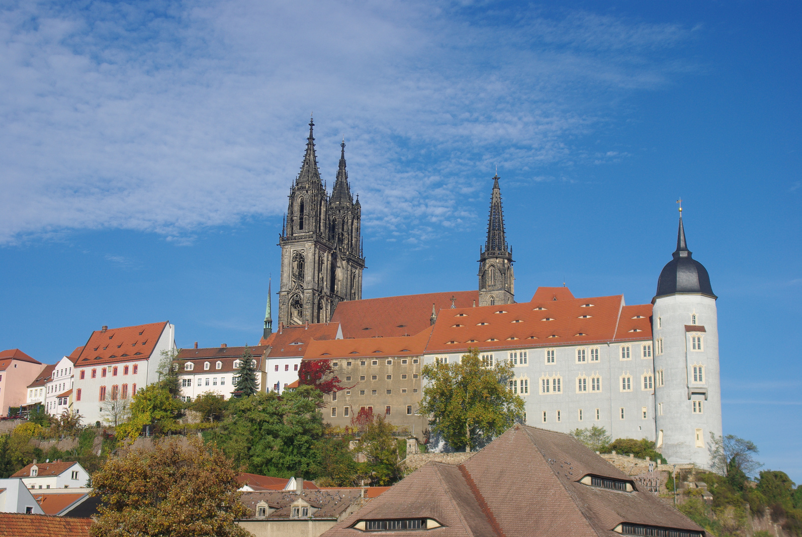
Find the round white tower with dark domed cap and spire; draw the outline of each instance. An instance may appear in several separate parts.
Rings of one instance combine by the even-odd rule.
[[[670,463],[710,466],[719,437],[719,329],[707,269],[692,259],[680,208],[677,249],[652,299],[657,447]]]

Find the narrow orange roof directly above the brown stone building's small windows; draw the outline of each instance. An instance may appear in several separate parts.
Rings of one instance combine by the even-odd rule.
[[[449,309],[448,311],[453,311]],[[358,357],[419,356],[426,349],[432,327],[415,336],[363,337],[361,339],[335,339],[312,341],[306,347],[304,360]]]

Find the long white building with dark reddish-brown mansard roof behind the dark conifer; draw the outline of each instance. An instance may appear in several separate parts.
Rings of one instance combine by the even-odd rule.
[[[269,347],[261,345],[249,347],[259,391],[264,391],[265,386],[264,354],[267,349]],[[237,390],[234,381],[243,353],[245,347],[229,347],[225,343],[209,349],[180,349],[172,367],[178,372],[181,399],[190,402],[207,393],[230,398]]]

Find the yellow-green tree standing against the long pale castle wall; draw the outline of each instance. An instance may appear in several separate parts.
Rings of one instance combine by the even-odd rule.
[[[428,384],[420,409],[452,447],[470,451],[523,421],[524,400],[509,389],[515,373],[507,361],[485,366],[479,349],[469,348],[460,362],[427,364],[421,373]]]

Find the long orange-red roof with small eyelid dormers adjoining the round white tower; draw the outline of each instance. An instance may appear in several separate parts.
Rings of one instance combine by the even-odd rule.
[[[549,289],[570,294],[562,287]],[[557,301],[549,296],[535,293],[538,299],[548,300],[443,310],[427,353],[463,352],[468,347],[518,349],[651,339],[651,305],[625,306],[622,296]],[[638,315],[641,318],[632,318]]]

